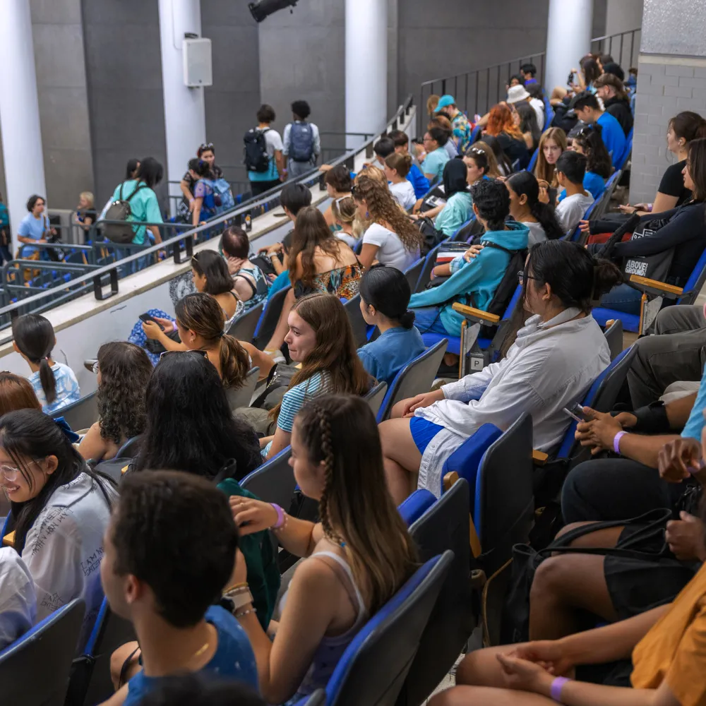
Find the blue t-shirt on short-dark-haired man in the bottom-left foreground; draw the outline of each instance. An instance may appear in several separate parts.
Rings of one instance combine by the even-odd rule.
[[[210,606],[205,618],[216,628],[218,646],[213,659],[199,674],[241,681],[253,690],[258,690],[258,668],[253,648],[237,618],[221,606]],[[145,676],[144,671],[139,671],[128,681],[128,693],[123,706],[138,706],[145,695],[159,688],[168,679],[164,676]]]

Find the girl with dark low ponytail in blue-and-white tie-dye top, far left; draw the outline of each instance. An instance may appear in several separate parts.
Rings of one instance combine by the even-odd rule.
[[[47,318],[38,313],[18,316],[12,322],[12,336],[12,347],[30,366],[30,383],[42,411],[53,414],[80,400],[76,374],[68,365],[55,363],[52,359],[56,336]]]

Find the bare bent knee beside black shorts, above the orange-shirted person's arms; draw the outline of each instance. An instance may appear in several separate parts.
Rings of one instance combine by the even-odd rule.
[[[546,558],[530,590],[530,640],[558,640],[589,628],[586,613],[614,622],[604,557],[558,554]]]

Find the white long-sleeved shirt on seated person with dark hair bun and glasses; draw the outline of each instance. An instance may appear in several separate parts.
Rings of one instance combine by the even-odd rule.
[[[415,416],[444,427],[422,456],[420,488],[441,492],[445,460],[483,424],[505,431],[530,412],[534,448],[561,443],[571,421],[563,408],[580,402],[611,360],[599,325],[592,316],[575,318],[579,313],[565,309],[546,323],[533,316],[505,359],[444,385],[444,400],[417,409]]]

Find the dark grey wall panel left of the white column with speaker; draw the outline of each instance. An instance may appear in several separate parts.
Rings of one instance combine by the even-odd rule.
[[[95,193],[102,205],[124,179],[128,159],[167,161],[157,3],[85,0],[83,28]],[[157,193],[166,207],[166,184]]]

